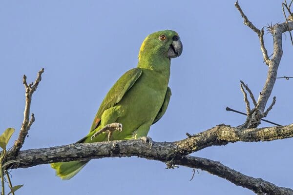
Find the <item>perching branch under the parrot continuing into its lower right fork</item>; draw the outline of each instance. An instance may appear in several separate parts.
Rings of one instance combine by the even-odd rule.
[[[293,129],[293,125],[291,126]],[[293,131],[293,130],[292,130]],[[185,156],[179,152],[181,140],[177,142],[153,142],[152,149],[141,140],[120,140],[110,142],[96,142],[86,144],[70,144],[65,146],[32,149],[21,151],[13,165],[13,169],[27,168],[39,164],[63,162],[71,160],[90,160],[104,157],[138,156],[146,159],[169,163],[171,166],[182,165],[190,168],[202,169],[209,173],[225,178],[228,181],[248,188],[255,193],[268,195],[293,195],[293,190],[282,188],[260,178],[243,175],[229,167],[201,157]]]

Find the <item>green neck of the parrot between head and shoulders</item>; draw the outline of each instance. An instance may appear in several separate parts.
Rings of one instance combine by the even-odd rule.
[[[160,73],[170,73],[170,62],[171,59],[166,57],[152,57],[152,56],[142,56],[137,64],[139,68],[145,68],[149,70],[154,70]]]

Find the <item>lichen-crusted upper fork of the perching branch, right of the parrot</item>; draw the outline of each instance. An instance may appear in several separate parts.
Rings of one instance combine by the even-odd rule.
[[[226,145],[229,142],[272,141],[289,137],[293,137],[293,124],[251,129],[241,129],[222,124],[175,143],[178,146],[178,152],[189,155],[209,146]]]

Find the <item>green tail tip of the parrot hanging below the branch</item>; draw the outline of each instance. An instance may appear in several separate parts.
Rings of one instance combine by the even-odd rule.
[[[70,161],[70,162],[56,162],[52,163],[51,167],[56,170],[56,176],[62,179],[70,179],[75,176],[88,161]]]

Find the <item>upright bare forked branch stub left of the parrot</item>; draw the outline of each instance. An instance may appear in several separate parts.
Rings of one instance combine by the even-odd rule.
[[[30,114],[30,105],[32,101],[32,95],[36,91],[41,79],[42,79],[42,73],[44,72],[44,69],[42,68],[38,76],[35,80],[35,82],[32,82],[30,84],[27,84],[26,82],[26,76],[23,75],[23,85],[25,88],[25,107],[24,107],[24,112],[23,112],[23,122],[21,124],[21,130],[19,133],[19,137],[17,140],[14,142],[14,146],[12,148],[12,152],[14,156],[17,156],[23,143],[24,139],[28,134],[28,130],[32,126],[33,122],[35,121],[34,114],[31,115],[31,119],[29,119],[29,114]]]

